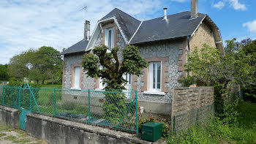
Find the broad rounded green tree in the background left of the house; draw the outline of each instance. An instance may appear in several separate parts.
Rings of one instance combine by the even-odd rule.
[[[23,79],[29,77],[42,83],[51,80],[59,81],[62,73],[62,60],[58,50],[51,47],[41,47],[38,50],[30,49],[10,59],[8,73],[11,77]]]

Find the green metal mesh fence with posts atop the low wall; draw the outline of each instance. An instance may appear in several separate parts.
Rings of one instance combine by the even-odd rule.
[[[138,134],[137,91],[0,86],[1,105]]]

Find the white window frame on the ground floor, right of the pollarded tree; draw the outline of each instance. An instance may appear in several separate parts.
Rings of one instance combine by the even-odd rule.
[[[158,74],[158,69],[157,69],[157,64],[160,64],[160,82],[157,81],[157,74]],[[155,67],[153,67],[155,66]],[[154,72],[155,70],[155,84],[153,87],[153,79],[154,79]],[[157,88],[157,83],[160,84],[160,87]],[[161,61],[156,61],[156,62],[150,62],[149,63],[149,91],[161,91],[162,89],[162,62]]]

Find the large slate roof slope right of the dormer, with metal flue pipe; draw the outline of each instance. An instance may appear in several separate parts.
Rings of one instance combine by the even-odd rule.
[[[129,44],[190,36],[205,16],[198,13],[198,18],[189,20],[190,12],[180,12],[167,15],[167,20],[161,17],[143,21]]]

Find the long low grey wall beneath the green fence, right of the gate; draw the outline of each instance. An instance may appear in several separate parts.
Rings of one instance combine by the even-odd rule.
[[[116,132],[35,113],[26,116],[26,133],[48,143],[148,143],[140,140],[136,134]]]

